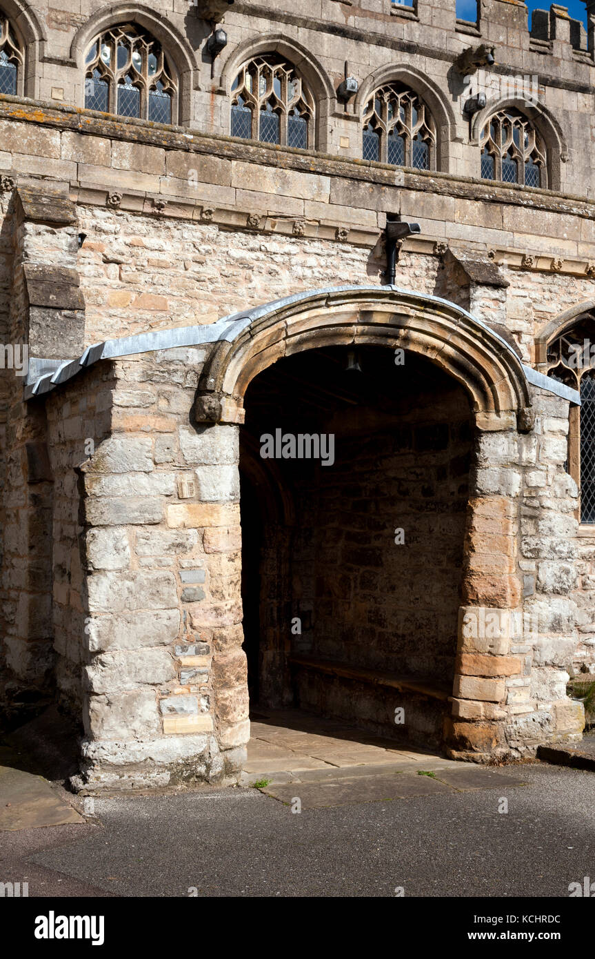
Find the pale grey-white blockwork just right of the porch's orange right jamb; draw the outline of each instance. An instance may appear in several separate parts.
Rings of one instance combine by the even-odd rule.
[[[535,389],[536,425],[522,455],[519,570],[525,624],[515,652],[526,657],[524,675],[511,694],[515,722],[511,744],[579,736],[583,707],[566,698],[579,637],[573,590],[577,583],[577,486],[566,473],[568,403]],[[529,437],[527,437],[529,440]]]

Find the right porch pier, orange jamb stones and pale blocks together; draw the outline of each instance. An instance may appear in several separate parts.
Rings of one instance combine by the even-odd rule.
[[[460,611],[453,755],[463,732],[478,752],[519,758],[539,742],[578,738],[584,726],[582,705],[566,697],[578,644],[571,596],[577,488],[563,468],[568,402],[538,388],[532,398],[531,433],[479,437],[466,554],[474,575]],[[470,719],[473,727],[462,729]]]

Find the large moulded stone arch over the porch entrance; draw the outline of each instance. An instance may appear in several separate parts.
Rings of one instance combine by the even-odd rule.
[[[205,364],[197,419],[229,415],[238,422],[245,390],[263,369],[302,350],[342,343],[423,354],[466,388],[480,429],[514,429],[515,417],[526,420],[531,407],[524,367],[509,343],[439,297],[396,287],[344,287],[290,296],[252,317],[235,337],[219,340]]]

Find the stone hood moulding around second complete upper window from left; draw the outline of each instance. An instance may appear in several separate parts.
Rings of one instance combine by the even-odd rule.
[[[316,107],[316,150],[327,152],[329,138],[327,120],[336,109],[336,94],[324,67],[297,40],[281,34],[265,34],[258,39],[250,37],[240,43],[222,62],[218,92],[225,95],[229,102],[232,83],[238,76],[241,66],[247,60],[267,53],[286,57],[308,83]]]

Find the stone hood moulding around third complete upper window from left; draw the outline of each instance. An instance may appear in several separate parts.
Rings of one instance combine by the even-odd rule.
[[[370,100],[375,90],[385,83],[404,83],[415,93],[418,93],[422,100],[428,105],[436,124],[437,138],[437,163],[436,169],[439,173],[447,174],[449,171],[450,157],[449,145],[455,137],[456,118],[452,106],[446,100],[443,91],[437,83],[431,81],[416,67],[400,63],[386,64],[369,74],[362,82],[354,101],[354,113],[358,120],[364,114],[366,104]]]

